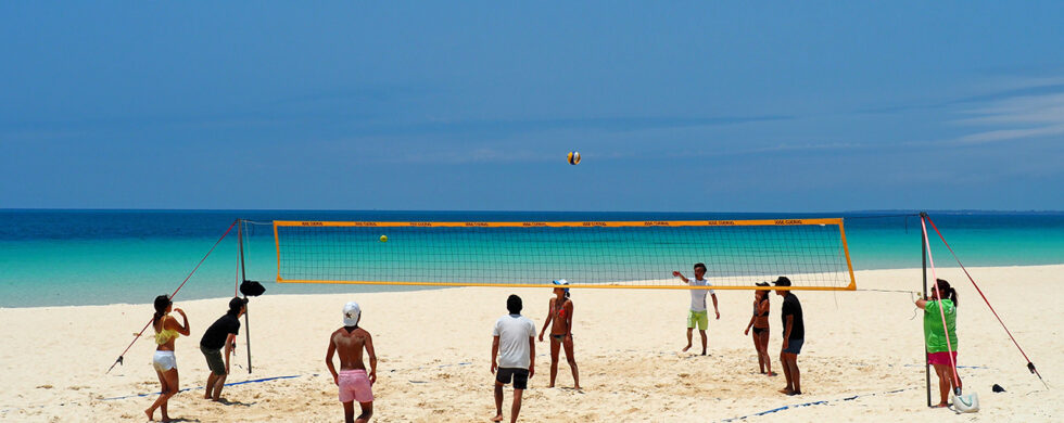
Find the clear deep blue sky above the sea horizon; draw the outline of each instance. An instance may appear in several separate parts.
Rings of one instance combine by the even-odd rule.
[[[1060,16],[8,1],[0,208],[1060,210]]]

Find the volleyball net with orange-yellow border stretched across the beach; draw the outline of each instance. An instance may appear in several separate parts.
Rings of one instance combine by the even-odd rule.
[[[398,222],[274,221],[277,282],[378,285],[857,289],[843,219]]]

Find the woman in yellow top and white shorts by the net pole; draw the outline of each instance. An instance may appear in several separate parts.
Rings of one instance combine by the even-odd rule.
[[[178,324],[177,319],[169,315],[170,310],[177,311],[185,320],[183,324]],[[155,329],[155,356],[152,357],[152,366],[159,375],[159,383],[163,385],[162,393],[152,406],[144,410],[148,420],[155,420],[155,409],[163,410],[163,421],[170,420],[166,413],[166,402],[177,394],[177,358],[174,356],[174,339],[179,335],[189,335],[189,318],[185,316],[185,310],[174,308],[174,302],[166,295],[155,297],[155,317],[152,319],[152,328]]]

